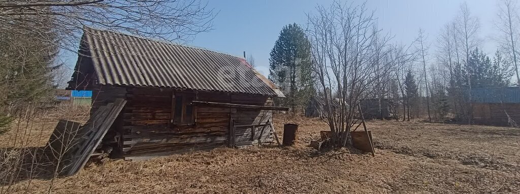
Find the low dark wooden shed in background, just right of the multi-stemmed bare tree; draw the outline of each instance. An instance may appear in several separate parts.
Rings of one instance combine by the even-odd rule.
[[[395,102],[389,99],[363,99],[359,101],[365,119],[393,119],[395,117]]]

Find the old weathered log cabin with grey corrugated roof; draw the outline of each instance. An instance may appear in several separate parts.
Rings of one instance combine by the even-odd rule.
[[[111,157],[270,144],[276,86],[243,58],[85,28],[67,89],[93,91],[92,114],[125,99],[102,140]]]

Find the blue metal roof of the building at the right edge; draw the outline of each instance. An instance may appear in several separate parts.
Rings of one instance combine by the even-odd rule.
[[[476,103],[520,103],[520,87],[473,88],[471,89],[471,101]]]

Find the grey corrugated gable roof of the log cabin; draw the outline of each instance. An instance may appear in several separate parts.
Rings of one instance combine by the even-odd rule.
[[[243,58],[111,31],[85,28],[97,83],[173,87],[284,97]],[[78,69],[76,67],[76,69]],[[75,88],[73,80],[70,88]]]

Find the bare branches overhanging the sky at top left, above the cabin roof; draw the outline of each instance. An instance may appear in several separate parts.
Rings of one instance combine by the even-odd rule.
[[[30,31],[72,51],[84,26],[182,42],[211,30],[213,17],[213,10],[200,0],[0,0],[0,30],[4,33],[23,35]],[[42,22],[55,28],[35,27]],[[57,35],[61,42],[47,40],[46,34]]]

